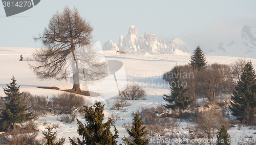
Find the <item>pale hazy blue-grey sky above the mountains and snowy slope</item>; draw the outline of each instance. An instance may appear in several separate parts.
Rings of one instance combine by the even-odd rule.
[[[120,34],[126,37],[131,25],[138,29],[138,37],[153,32],[158,40],[178,37],[190,46],[204,47],[239,39],[246,24],[256,28],[256,1],[41,0],[34,8],[10,17],[0,6],[0,47],[41,47],[33,36],[38,36],[52,15],[65,6],[75,6],[91,22],[93,39],[102,45],[108,39],[116,43]]]

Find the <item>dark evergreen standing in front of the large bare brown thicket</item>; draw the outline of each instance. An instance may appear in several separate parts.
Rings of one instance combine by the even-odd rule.
[[[171,95],[164,94],[163,99],[169,104],[164,105],[165,108],[170,108],[173,110],[179,109],[179,113],[181,113],[181,109],[185,110],[188,105],[190,105],[194,100],[190,100],[188,96],[185,96],[185,92],[188,88],[184,88],[182,86],[182,82],[180,81],[180,73],[179,66],[175,65],[175,80],[170,83],[170,93]]]

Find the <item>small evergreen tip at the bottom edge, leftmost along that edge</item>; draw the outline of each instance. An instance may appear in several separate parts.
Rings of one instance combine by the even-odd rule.
[[[57,137],[57,132],[52,132],[53,127],[47,126],[46,129],[48,131],[42,131],[42,135],[44,135],[46,139],[46,145],[62,145],[65,142],[65,138],[61,137],[58,142],[55,142],[55,139]],[[36,145],[41,145],[36,141]]]

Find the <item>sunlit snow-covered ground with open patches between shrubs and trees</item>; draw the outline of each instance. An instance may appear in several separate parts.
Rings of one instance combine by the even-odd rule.
[[[36,95],[45,95],[51,97],[53,94],[61,93],[59,90],[51,89],[41,89],[37,88],[38,86],[56,86],[60,89],[70,89],[72,88],[72,83],[69,81],[57,81],[57,80],[44,80],[39,81],[36,76],[33,74],[33,71],[30,69],[28,61],[18,61],[20,54],[24,58],[30,57],[31,54],[36,49],[33,48],[22,48],[22,47],[0,47],[0,88],[6,87],[6,84],[9,84],[12,76],[17,80],[17,85],[20,85],[21,91],[29,91],[31,94]],[[179,51],[179,50],[178,50]],[[120,120],[116,123],[117,130],[119,132],[119,143],[121,143],[121,137],[124,135],[127,136],[125,129],[121,127],[123,123],[132,123],[132,112],[143,107],[157,107],[161,104],[166,104],[162,99],[163,94],[169,94],[169,87],[166,82],[161,78],[164,72],[169,71],[177,63],[178,65],[187,64],[190,59],[190,55],[183,52],[176,52],[176,55],[123,55],[116,54],[115,51],[104,51],[106,60],[119,60],[123,63],[123,68],[126,76],[125,79],[120,79],[120,83],[132,84],[138,83],[143,87],[147,93],[146,100],[138,101],[129,101],[132,105],[126,107],[126,112],[121,111],[112,111],[110,107],[113,105],[113,102],[116,99],[116,91],[111,91],[111,89],[106,90],[104,88],[108,82],[97,82],[94,85],[89,87],[90,90],[101,93],[101,96],[97,98],[101,99],[101,102],[105,104],[104,114],[105,120],[111,114],[115,114],[120,117]],[[238,59],[237,57],[224,57],[224,56],[206,56],[208,64],[210,63],[222,63],[222,64],[232,64]],[[256,59],[251,60],[254,68],[256,67]],[[127,81],[127,82],[126,82]],[[101,87],[98,87],[98,84],[103,84]],[[108,95],[108,97],[106,97]],[[3,89],[0,89],[0,96],[5,96]],[[106,99],[104,99],[104,97]],[[91,101],[94,98],[86,97],[85,99]],[[60,128],[54,129],[57,131],[58,137],[66,137],[66,144],[69,144],[68,137],[78,136],[77,134],[77,125],[76,122],[72,124],[63,124],[57,120],[58,116],[46,116],[39,117],[37,120],[39,130],[45,130],[47,125],[42,125],[40,122],[42,119],[47,120],[48,125],[51,124],[60,124]],[[77,118],[84,122],[84,119],[77,114]],[[180,130],[186,128],[189,123],[181,123],[179,126]],[[182,131],[181,131],[182,132]],[[187,132],[184,130],[183,132]],[[253,133],[256,132],[254,129],[249,129],[248,127],[242,127],[241,129],[236,126],[228,130],[231,137],[244,137],[245,135],[256,137]],[[39,132],[38,137],[42,137],[41,132]]]

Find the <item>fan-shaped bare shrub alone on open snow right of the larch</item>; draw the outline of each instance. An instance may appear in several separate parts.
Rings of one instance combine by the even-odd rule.
[[[120,91],[119,98],[122,100],[145,100],[146,92],[139,85],[133,84]]]

